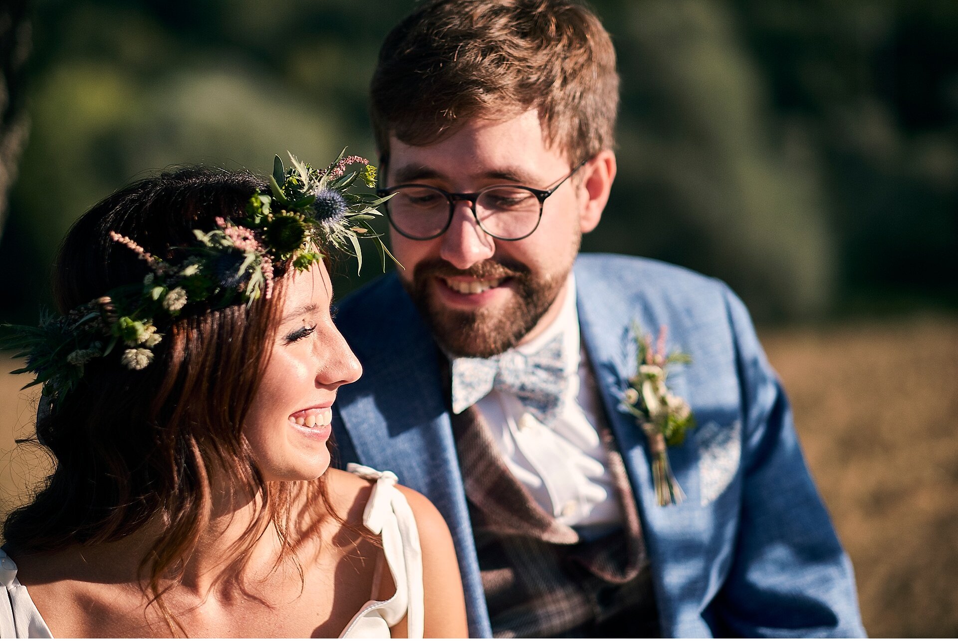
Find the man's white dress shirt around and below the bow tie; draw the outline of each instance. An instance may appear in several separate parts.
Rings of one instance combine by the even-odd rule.
[[[563,336],[568,378],[556,424],[550,428],[540,423],[513,394],[496,389],[475,406],[489,424],[507,468],[546,512],[577,528],[617,527],[623,523],[622,506],[596,427],[604,424],[604,414],[582,349],[571,273],[567,285],[559,316],[528,344],[513,348],[532,354]]]

